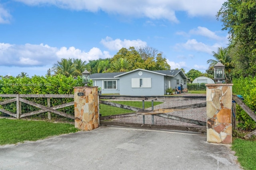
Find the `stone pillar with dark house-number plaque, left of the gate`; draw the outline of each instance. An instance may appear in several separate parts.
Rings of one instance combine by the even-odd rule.
[[[90,131],[99,127],[98,87],[74,87],[75,127]]]

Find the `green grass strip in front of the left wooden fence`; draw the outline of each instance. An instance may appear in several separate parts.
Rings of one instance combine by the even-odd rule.
[[[21,119],[0,119],[0,145],[36,141],[49,136],[79,131],[68,123],[28,121]]]

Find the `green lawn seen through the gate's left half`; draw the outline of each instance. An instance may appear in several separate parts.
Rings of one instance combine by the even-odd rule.
[[[133,106],[142,108],[142,102],[139,101],[115,101],[114,103],[123,104],[127,106]],[[162,104],[163,102],[154,102],[154,106],[158,104]],[[151,107],[151,102],[144,102],[145,108]],[[118,107],[108,106],[105,104],[100,104],[100,113],[101,116],[108,116],[108,115],[119,115],[124,113],[134,113],[135,111],[128,110],[128,109],[122,109]]]

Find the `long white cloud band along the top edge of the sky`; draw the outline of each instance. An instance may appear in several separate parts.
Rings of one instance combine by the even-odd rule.
[[[178,22],[176,11],[184,11],[191,17],[210,16],[215,18],[225,0],[16,0],[28,5],[50,4],[70,10],[97,12],[102,10],[109,14],[124,16],[165,19]]]

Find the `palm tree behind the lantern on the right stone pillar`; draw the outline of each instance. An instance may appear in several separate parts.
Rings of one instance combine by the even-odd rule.
[[[207,64],[209,64],[209,68],[208,69],[213,69],[213,66],[215,64],[217,64],[218,62],[222,63],[225,66],[225,77],[227,79],[226,73],[228,73],[230,82],[232,82],[231,78],[230,78],[230,71],[233,68],[232,64],[231,64],[231,58],[228,55],[228,49],[223,48],[223,47],[218,47],[218,51],[217,53],[212,51],[213,57],[216,60],[208,60]]]

